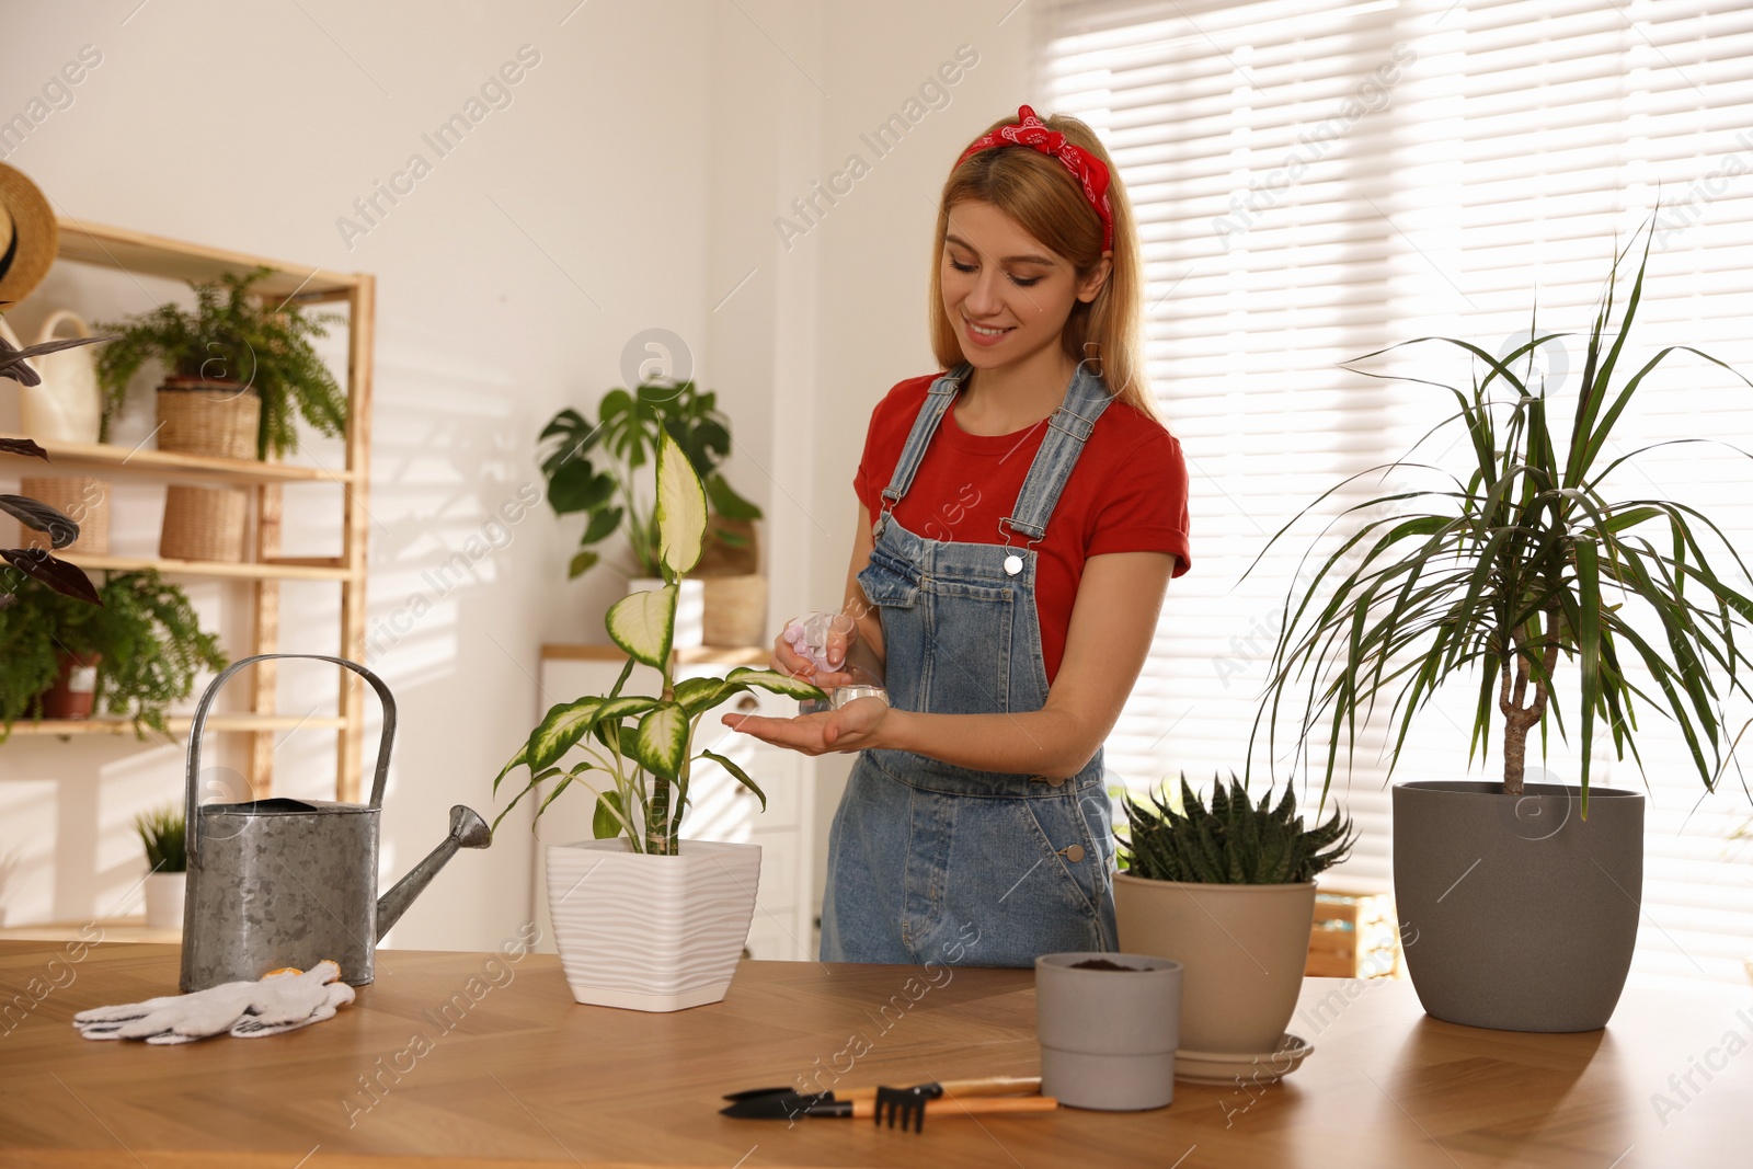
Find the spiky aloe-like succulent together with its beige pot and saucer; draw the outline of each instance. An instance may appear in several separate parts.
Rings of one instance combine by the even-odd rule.
[[[1276,804],[1271,790],[1250,803],[1236,776],[1227,790],[1213,782],[1210,808],[1185,776],[1180,796],[1180,808],[1160,794],[1127,801],[1115,925],[1122,950],[1185,967],[1175,1074],[1229,1083],[1234,1057],[1285,1059],[1315,925],[1315,876],[1345,861],[1355,834],[1338,810],[1304,827],[1288,783]]]

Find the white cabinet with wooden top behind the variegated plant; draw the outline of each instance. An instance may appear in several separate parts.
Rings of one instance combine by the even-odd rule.
[[[677,680],[722,677],[736,666],[764,666],[768,661],[766,650],[710,647],[677,650]],[[540,719],[556,703],[582,694],[607,694],[626,661],[621,650],[607,645],[543,645],[535,717]],[[628,682],[628,691],[650,694],[656,685],[657,671],[640,666]],[[810,890],[810,873],[815,861],[815,761],[720,726],[720,715],[738,712],[789,717],[798,713],[798,703],[766,691],[738,694],[701,719],[694,738],[696,752],[708,748],[749,773],[766,794],[766,811],[761,811],[761,799],[733,780],[724,768],[701,761],[689,782],[682,838],[761,845],[761,889],[756,897],[754,924],[749,929],[749,957],[813,960],[817,906]],[[594,799],[587,790],[577,794],[568,790],[536,822],[531,911],[542,929],[543,941],[538,946],[542,950],[554,948],[547,913],[545,845],[589,840],[593,806]]]

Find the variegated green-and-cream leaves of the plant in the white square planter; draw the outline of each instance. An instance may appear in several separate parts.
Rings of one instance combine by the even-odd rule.
[[[657,438],[654,524],[657,568],[664,585],[624,596],[603,619],[610,640],[628,654],[626,668],[608,694],[559,703],[529,733],[528,741],[493,780],[498,794],[500,783],[514,769],[524,768],[529,773],[529,782],[493,822],[494,829],[524,796],[540,794],[540,817],[561,792],[580,783],[596,796],[593,824],[598,840],[626,836],[633,852],[675,854],[689,803],[689,778],[701,759],[724,768],[766,808],[766,794],[735,761],[694,748],[701,717],[750,689],[826,698],[806,682],[747,666],[724,678],[677,682],[670,652],[677,594],[684,575],[699,561],[706,531],[706,492],[684,450],[666,433]],[[636,664],[659,673],[663,685],[657,694],[624,692]]]

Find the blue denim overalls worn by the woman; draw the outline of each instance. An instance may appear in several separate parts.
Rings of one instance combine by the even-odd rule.
[[[1078,368],[1015,512],[999,522],[1004,543],[924,540],[892,510],[966,372],[940,377],[926,394],[882,492],[876,545],[859,584],[882,608],[894,708],[1040,710],[1047,664],[1033,545],[1111,396]],[[1011,538],[1026,547],[1011,547]],[[1111,859],[1101,752],[1062,780],[866,750],[827,838],[822,959],[1033,966],[1041,953],[1115,950]]]

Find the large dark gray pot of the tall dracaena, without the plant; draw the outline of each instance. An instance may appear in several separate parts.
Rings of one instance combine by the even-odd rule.
[[[1625,988],[1643,903],[1644,797],[1529,783],[1394,789],[1394,899],[1427,1015],[1595,1031]]]

